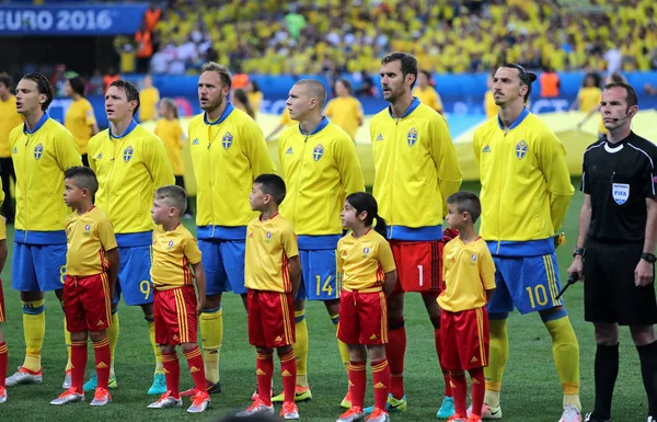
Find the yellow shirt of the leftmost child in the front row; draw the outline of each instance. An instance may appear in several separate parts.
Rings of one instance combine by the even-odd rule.
[[[110,267],[105,252],[117,248],[114,227],[97,207],[66,221],[66,273],[74,276],[101,274]]]

